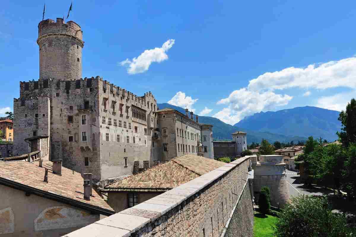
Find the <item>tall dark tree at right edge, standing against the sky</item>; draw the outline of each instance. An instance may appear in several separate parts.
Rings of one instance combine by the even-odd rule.
[[[346,110],[341,111],[338,120],[341,121],[342,128],[337,135],[342,145],[348,147],[350,143],[356,142],[356,100],[354,98],[347,103]]]

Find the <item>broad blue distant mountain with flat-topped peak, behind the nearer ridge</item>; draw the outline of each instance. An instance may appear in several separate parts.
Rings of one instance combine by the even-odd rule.
[[[334,141],[341,122],[338,111],[305,106],[276,112],[260,112],[245,117],[234,126],[247,130],[284,134],[286,136],[313,136]]]

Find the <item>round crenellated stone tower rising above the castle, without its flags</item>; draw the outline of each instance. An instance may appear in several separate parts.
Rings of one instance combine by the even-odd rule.
[[[82,77],[83,32],[74,21],[51,19],[38,24],[40,79],[74,80]]]

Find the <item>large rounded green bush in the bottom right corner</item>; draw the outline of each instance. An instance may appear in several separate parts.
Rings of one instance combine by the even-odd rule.
[[[325,197],[299,195],[284,206],[274,227],[274,237],[356,236],[344,214],[331,212]]]

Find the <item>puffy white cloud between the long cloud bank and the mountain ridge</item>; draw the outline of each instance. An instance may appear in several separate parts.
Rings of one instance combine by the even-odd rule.
[[[226,104],[227,108],[214,114],[213,117],[233,125],[247,115],[284,106],[292,98],[292,96],[278,95],[272,91],[258,92],[241,88],[233,91],[229,97],[218,101],[217,104]]]

